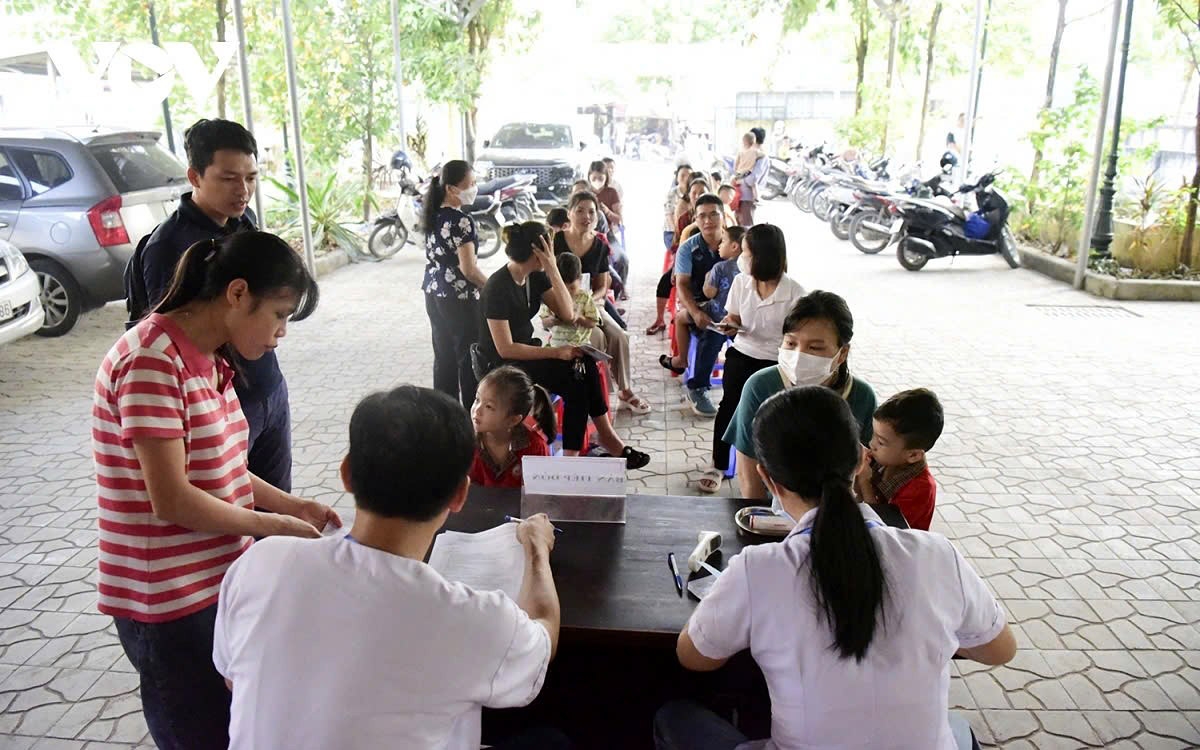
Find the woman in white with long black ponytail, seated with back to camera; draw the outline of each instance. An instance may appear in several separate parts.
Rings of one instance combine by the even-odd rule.
[[[695,703],[655,718],[658,748],[958,750],[950,659],[1008,662],[1016,642],[978,574],[941,534],[884,526],[854,500],[858,422],[821,386],[768,400],[754,422],[758,473],[793,518],[779,544],[730,559],[679,634],[679,662],[716,670],[749,648],[770,691],[770,738],[750,743]]]

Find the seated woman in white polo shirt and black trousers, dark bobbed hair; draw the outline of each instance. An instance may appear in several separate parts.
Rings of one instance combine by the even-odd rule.
[[[784,338],[784,318],[804,288],[787,275],[787,244],[774,224],[757,224],[746,230],[738,256],[739,274],[730,287],[722,324],[742,329],[725,352],[724,394],[713,427],[713,466],[700,478],[700,491],[716,492],[730,468],[730,443],[725,431],[742,398],[750,376],[773,367]]]

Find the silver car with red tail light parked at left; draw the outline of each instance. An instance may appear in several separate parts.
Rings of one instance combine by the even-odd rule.
[[[0,128],[0,240],[41,282],[42,336],[125,298],[138,241],[188,190],[187,172],[145,131]]]

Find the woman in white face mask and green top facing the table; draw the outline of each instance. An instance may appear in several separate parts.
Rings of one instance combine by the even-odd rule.
[[[767,497],[767,487],[758,475],[754,418],[764,401],[785,388],[824,385],[832,389],[850,404],[864,445],[874,433],[875,390],[850,373],[854,317],[846,300],[832,292],[811,292],[797,300],[784,320],[782,331],[776,352],[779,365],[750,376],[725,431],[725,442],[738,451],[738,486],[745,498]]]

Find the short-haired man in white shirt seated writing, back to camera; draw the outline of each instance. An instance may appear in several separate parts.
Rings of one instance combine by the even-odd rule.
[[[540,515],[517,529],[517,601],[446,581],[421,560],[467,502],[467,412],[404,385],[364,398],[349,432],[349,535],[265,539],[221,587],[212,660],[233,690],[230,748],[476,750],[480,708],[533,701],[554,655],[553,528]]]

